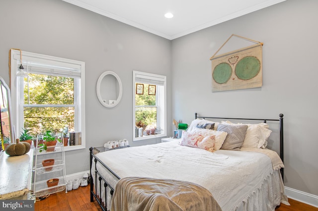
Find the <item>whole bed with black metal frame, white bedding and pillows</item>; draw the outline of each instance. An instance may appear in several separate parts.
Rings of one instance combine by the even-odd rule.
[[[267,122],[278,123],[280,155],[267,149],[272,132]],[[146,211],[156,205],[154,198],[142,209],[140,205],[136,209],[132,206],[137,201],[144,203],[145,196],[153,191],[160,196],[156,199],[169,200],[171,207],[178,207],[160,207],[168,203],[159,201],[156,210],[206,210],[199,207],[202,204],[211,207],[208,203],[215,203],[211,211],[272,211],[280,203],[288,205],[283,184],[283,140],[282,114],[278,119],[247,119],[204,117],[195,113],[195,120],[179,140],[97,154],[91,147],[90,200],[96,199],[103,211],[116,211],[116,206],[122,211]],[[132,183],[133,186],[127,186]],[[190,189],[175,191],[183,186]],[[132,187],[137,187],[137,191]],[[153,187],[159,189],[149,189]],[[126,190],[134,192],[126,193]],[[161,193],[161,190],[165,191]],[[207,198],[209,194],[212,199]],[[188,196],[198,198],[191,204]]]

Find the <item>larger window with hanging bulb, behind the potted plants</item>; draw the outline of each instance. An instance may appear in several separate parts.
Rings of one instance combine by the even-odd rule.
[[[22,128],[36,138],[54,133],[80,132],[78,145],[85,148],[84,72],[85,63],[22,51],[27,77],[17,76],[20,51],[11,50],[11,98],[13,124],[18,138]]]

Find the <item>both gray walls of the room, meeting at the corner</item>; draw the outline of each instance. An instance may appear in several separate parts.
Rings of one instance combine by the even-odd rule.
[[[318,121],[317,8],[316,0],[288,0],[175,39],[171,45],[63,1],[1,0],[0,75],[9,81],[10,48],[85,62],[87,147],[66,152],[67,174],[88,169],[88,147],[131,140],[132,70],[139,70],[167,76],[168,136],[173,118],[190,123],[194,112],[255,118],[283,113],[285,184],[318,195],[318,141],[313,133]],[[231,34],[264,43],[263,86],[212,93],[209,58]],[[95,93],[98,76],[106,70],[115,71],[123,82],[122,101],[112,109],[104,108]]]

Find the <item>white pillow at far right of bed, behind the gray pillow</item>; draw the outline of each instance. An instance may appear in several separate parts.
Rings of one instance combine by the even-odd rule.
[[[235,124],[230,121],[223,122],[222,124],[228,125],[247,125],[247,131],[244,138],[244,141],[241,147],[248,148],[266,148],[267,139],[269,135],[272,133],[271,130],[268,129],[268,125],[266,123],[259,124]]]

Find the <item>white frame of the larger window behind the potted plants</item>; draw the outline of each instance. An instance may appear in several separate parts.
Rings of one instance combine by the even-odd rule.
[[[11,50],[11,100],[12,100],[12,123],[15,126],[14,133],[15,137],[19,136],[19,129],[23,128],[23,87],[20,85],[22,83],[23,77],[17,77],[16,73],[19,70],[20,66],[20,51]],[[81,145],[72,145],[65,147],[65,151],[83,149],[85,148],[85,63],[64,59],[59,57],[47,56],[42,54],[36,54],[31,52],[22,51],[22,65],[24,71],[26,71],[26,62],[34,62],[40,64],[47,64],[50,67],[46,70],[58,72],[60,76],[71,76],[75,77],[74,80],[74,127],[75,132],[81,132]],[[61,69],[52,69],[52,67],[65,67],[65,70]],[[42,70],[45,70],[45,67],[41,67]],[[20,103],[22,102],[22,103]],[[60,105],[59,105],[60,106]],[[54,106],[54,107],[59,107]],[[65,105],[61,105],[65,106]],[[36,107],[36,106],[32,106]]]

